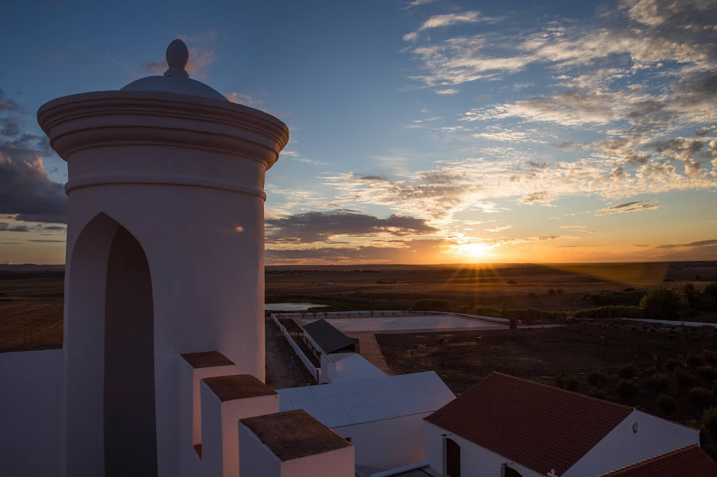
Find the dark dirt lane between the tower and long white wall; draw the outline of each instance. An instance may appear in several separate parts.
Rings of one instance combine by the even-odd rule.
[[[265,321],[265,338],[267,385],[283,389],[316,384],[272,320]]]

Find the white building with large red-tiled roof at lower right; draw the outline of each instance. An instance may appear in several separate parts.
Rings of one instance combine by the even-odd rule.
[[[635,408],[497,372],[425,425],[426,460],[451,477],[596,476],[700,440]]]

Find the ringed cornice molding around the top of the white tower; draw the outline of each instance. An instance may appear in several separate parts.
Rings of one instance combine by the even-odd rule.
[[[171,92],[101,91],[60,97],[37,121],[61,158],[108,146],[211,150],[270,168],[288,143],[288,127],[252,107]]]

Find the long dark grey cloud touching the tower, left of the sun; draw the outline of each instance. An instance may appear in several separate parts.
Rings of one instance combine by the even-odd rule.
[[[393,214],[377,218],[354,211],[312,211],[281,218],[265,219],[268,243],[313,244],[335,236],[374,237],[425,235],[436,233],[422,218]]]

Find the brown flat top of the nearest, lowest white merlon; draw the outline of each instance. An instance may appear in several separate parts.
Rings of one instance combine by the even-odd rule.
[[[280,461],[351,447],[346,439],[303,409],[240,419]]]

